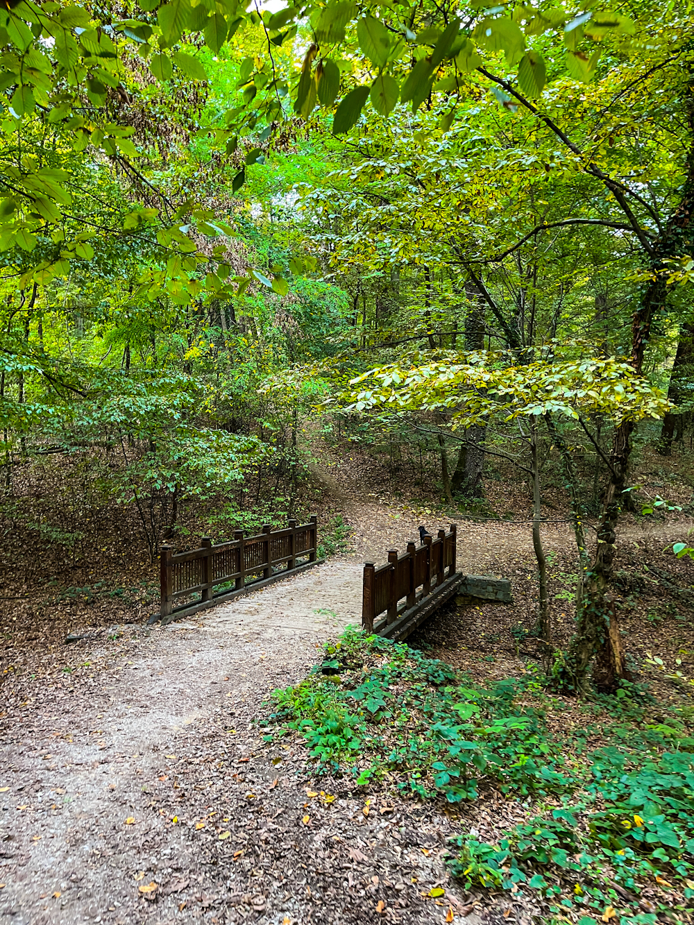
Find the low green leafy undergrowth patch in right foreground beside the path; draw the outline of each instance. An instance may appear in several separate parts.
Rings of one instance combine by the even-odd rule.
[[[648,722],[636,685],[577,704],[529,671],[489,687],[404,644],[348,630],[299,685],[275,691],[266,737],[300,735],[316,773],[404,795],[523,801],[527,819],[495,844],[452,840],[468,888],[540,900],[554,920],[651,925],[694,905],[694,739]],[[552,722],[567,714],[566,722]],[[559,711],[559,712],[558,712]],[[570,714],[570,716],[569,716]],[[599,748],[589,747],[600,739]],[[465,815],[465,813],[462,813]]]

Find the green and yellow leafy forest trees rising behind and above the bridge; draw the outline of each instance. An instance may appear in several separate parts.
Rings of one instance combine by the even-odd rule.
[[[317,420],[416,446],[450,503],[502,456],[549,658],[551,464],[580,563],[553,670],[581,688],[597,655],[613,685],[632,451],[670,454],[691,406],[691,13],[6,0],[6,503],[55,457],[71,500],[31,529],[74,561],[118,503],[154,561],[292,515]]]

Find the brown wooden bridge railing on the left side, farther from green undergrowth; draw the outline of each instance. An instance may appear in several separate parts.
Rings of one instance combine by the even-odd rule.
[[[236,530],[232,540],[217,546],[204,537],[200,549],[187,552],[174,552],[170,546],[162,546],[159,611],[162,621],[177,611],[208,607],[273,575],[304,569],[308,562],[316,561],[317,532],[314,516],[308,524],[291,520],[282,530],[266,525],[257,536],[243,536],[242,530]],[[200,596],[197,600],[189,599],[197,594]],[[185,603],[174,607],[180,598],[186,598]]]

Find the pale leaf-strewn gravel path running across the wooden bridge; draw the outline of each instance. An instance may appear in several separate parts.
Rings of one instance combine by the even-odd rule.
[[[264,741],[254,722],[324,640],[359,622],[361,562],[416,536],[421,511],[363,497],[341,494],[353,552],[340,561],[164,628],[25,653],[0,748],[0,919],[474,917],[443,867],[446,812],[385,791],[367,804],[352,779],[311,789],[304,751]],[[429,512],[426,525],[451,519]],[[545,532],[548,548],[571,549],[567,524]],[[458,536],[464,571],[506,573],[522,591],[528,524],[459,522]],[[445,897],[430,896],[440,884]]]

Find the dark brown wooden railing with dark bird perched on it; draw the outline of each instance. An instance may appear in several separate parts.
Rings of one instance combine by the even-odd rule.
[[[407,551],[400,555],[397,549],[390,549],[383,565],[365,563],[362,628],[366,633],[374,632],[374,623],[382,613],[382,626],[394,623],[401,611],[424,602],[455,574],[456,540],[457,527],[451,524],[448,533],[440,530],[436,537],[425,536],[421,546],[408,543]]]

